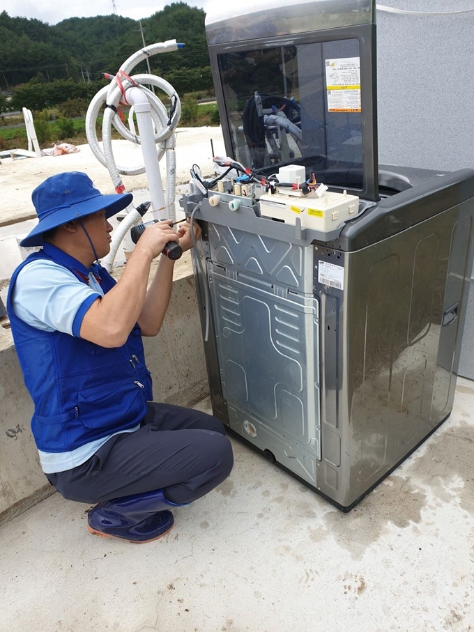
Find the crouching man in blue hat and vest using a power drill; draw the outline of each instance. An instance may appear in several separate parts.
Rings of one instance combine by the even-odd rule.
[[[97,261],[110,249],[107,219],[132,195],[102,195],[72,172],[32,199],[39,222],[20,245],[42,249],[13,273],[7,309],[41,465],[64,498],[98,503],[91,533],[157,539],[173,526],[170,507],[208,493],[233,465],[215,417],[151,402],[142,335],[160,331],[174,261],[161,257],[147,291],[148,274],[167,242],[192,247],[190,226],[148,226],[116,283]]]

